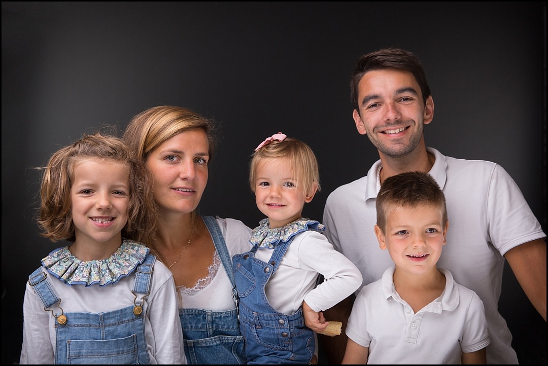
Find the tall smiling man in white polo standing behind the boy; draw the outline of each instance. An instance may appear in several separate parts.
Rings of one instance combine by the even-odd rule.
[[[379,280],[391,265],[373,229],[380,185],[402,172],[430,173],[446,196],[451,226],[438,265],[483,300],[491,338],[487,363],[517,363],[510,330],[498,312],[505,259],[546,321],[546,234],[520,189],[500,165],[449,158],[426,147],[423,129],[433,119],[434,102],[413,53],[390,48],[362,56],[352,74],[351,98],[356,128],[369,137],[380,160],[366,177],[329,195],[323,216],[329,241],[361,270],[362,287]],[[343,321],[345,328],[352,302],[350,297],[324,311],[325,318]],[[340,363],[346,335],[319,337],[329,363]]]

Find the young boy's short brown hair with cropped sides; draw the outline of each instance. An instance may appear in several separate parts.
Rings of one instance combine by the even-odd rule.
[[[376,224],[385,233],[389,213],[396,207],[433,206],[442,223],[448,221],[445,195],[428,173],[406,172],[384,180],[376,197]]]

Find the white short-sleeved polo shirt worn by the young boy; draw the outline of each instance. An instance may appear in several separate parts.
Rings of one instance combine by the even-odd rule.
[[[394,269],[361,289],[346,328],[350,339],[369,347],[368,364],[460,364],[461,352],[489,344],[481,299],[449,271],[439,269],[446,276],[440,297],[414,313],[396,292]]]

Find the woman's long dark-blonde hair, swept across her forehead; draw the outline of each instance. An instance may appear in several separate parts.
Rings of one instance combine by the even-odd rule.
[[[136,154],[137,158],[146,164],[150,153],[165,141],[181,132],[201,129],[206,133],[209,146],[209,162],[213,160],[216,153],[218,138],[216,136],[217,126],[214,120],[203,117],[189,108],[176,106],[157,106],[146,109],[136,114],[129,121],[122,140],[124,140]],[[153,177],[147,185],[152,187]],[[152,188],[151,188],[152,189]],[[149,210],[152,217],[157,217],[158,204],[153,201],[151,205],[144,208]],[[198,208],[191,213],[192,220],[196,223]],[[156,227],[157,229],[157,227]],[[149,231],[145,237],[145,243],[153,245],[158,240],[157,231]]]

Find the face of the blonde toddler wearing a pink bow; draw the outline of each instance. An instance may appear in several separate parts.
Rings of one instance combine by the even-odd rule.
[[[255,202],[269,218],[271,228],[281,228],[301,217],[305,195],[287,159],[264,159],[257,165]]]

